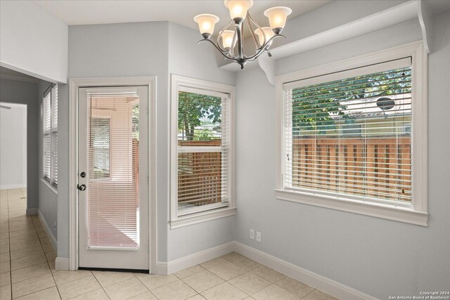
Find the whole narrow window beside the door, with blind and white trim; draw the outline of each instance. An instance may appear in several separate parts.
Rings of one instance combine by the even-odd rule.
[[[172,228],[234,213],[232,93],[172,76]]]

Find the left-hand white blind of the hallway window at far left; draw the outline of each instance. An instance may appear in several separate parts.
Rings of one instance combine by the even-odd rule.
[[[42,171],[44,178],[50,182],[51,178],[51,89],[44,93],[43,99],[43,157],[42,157]]]

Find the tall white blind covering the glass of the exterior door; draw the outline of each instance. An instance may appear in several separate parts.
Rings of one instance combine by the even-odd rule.
[[[139,248],[139,96],[87,92],[86,247]]]

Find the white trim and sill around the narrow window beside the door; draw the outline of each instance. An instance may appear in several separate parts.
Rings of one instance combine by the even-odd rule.
[[[228,93],[230,95],[230,146],[229,146],[229,190],[230,198],[229,205],[226,207],[220,207],[217,209],[207,209],[204,211],[194,212],[192,214],[178,215],[178,202],[177,202],[177,178],[178,178],[178,91],[182,87],[183,90],[198,91],[205,90],[207,94],[214,94],[214,91],[221,94]],[[212,91],[212,93],[211,93]],[[216,95],[213,95],[216,96]],[[223,96],[223,95],[221,95]],[[235,99],[235,87],[226,84],[218,84],[211,81],[205,81],[201,79],[193,79],[190,77],[183,77],[176,74],[171,74],[171,101],[170,101],[170,228],[180,228],[184,226],[193,225],[195,223],[202,223],[205,221],[211,221],[214,219],[224,218],[226,216],[233,216],[236,214],[236,202],[235,202],[235,122],[234,122],[234,99]]]

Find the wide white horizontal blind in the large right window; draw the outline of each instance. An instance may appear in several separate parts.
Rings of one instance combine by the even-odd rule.
[[[286,189],[411,207],[411,58],[284,90]]]

